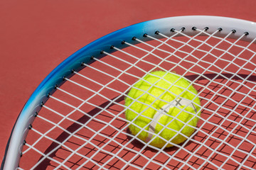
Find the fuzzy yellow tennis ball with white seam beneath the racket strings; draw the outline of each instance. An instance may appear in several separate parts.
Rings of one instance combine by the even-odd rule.
[[[129,130],[154,147],[172,147],[190,137],[200,116],[196,89],[174,72],[156,71],[139,79],[124,99]]]

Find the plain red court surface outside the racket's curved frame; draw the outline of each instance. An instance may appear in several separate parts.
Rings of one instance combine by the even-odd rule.
[[[88,43],[134,23],[208,15],[256,22],[252,0],[0,1],[0,162],[29,96],[60,62]]]

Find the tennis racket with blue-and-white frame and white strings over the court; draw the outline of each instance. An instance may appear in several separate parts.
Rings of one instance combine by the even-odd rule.
[[[256,23],[181,16],[91,42],[28,99],[1,169],[256,169],[255,41]],[[195,132],[174,147],[139,140],[124,115],[131,86],[155,70],[181,75],[201,100]]]

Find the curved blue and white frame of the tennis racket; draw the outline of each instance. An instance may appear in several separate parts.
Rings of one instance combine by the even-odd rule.
[[[175,30],[185,28],[183,33],[186,35],[196,35],[198,30],[193,30],[193,27],[198,28],[198,30],[208,27],[208,33],[213,33],[218,28],[222,28],[221,31],[215,34],[220,37],[227,35],[231,30],[236,30],[231,35],[233,38],[240,37],[247,31],[249,34],[244,37],[244,40],[250,41],[256,38],[256,23],[254,22],[216,16],[178,16],[137,23],[91,42],[68,57],[50,72],[28,99],[11,132],[1,169],[16,169],[18,167],[28,130],[33,125],[33,120],[41,110],[42,104],[48,100],[48,94],[53,94],[55,86],[61,86],[64,83],[64,77],[72,77],[73,70],[78,72],[85,67],[82,63],[88,64],[92,62],[92,56],[97,58],[104,57],[105,55],[102,54],[102,50],[108,53],[114,52],[110,48],[112,45],[119,49],[127,47],[127,45],[122,44],[122,41],[135,44],[137,41],[132,40],[134,37],[139,40],[149,40],[149,38],[143,36],[145,33],[154,38],[162,38],[161,35],[156,34],[156,31],[170,36],[174,34],[174,32],[170,31],[172,28]]]

